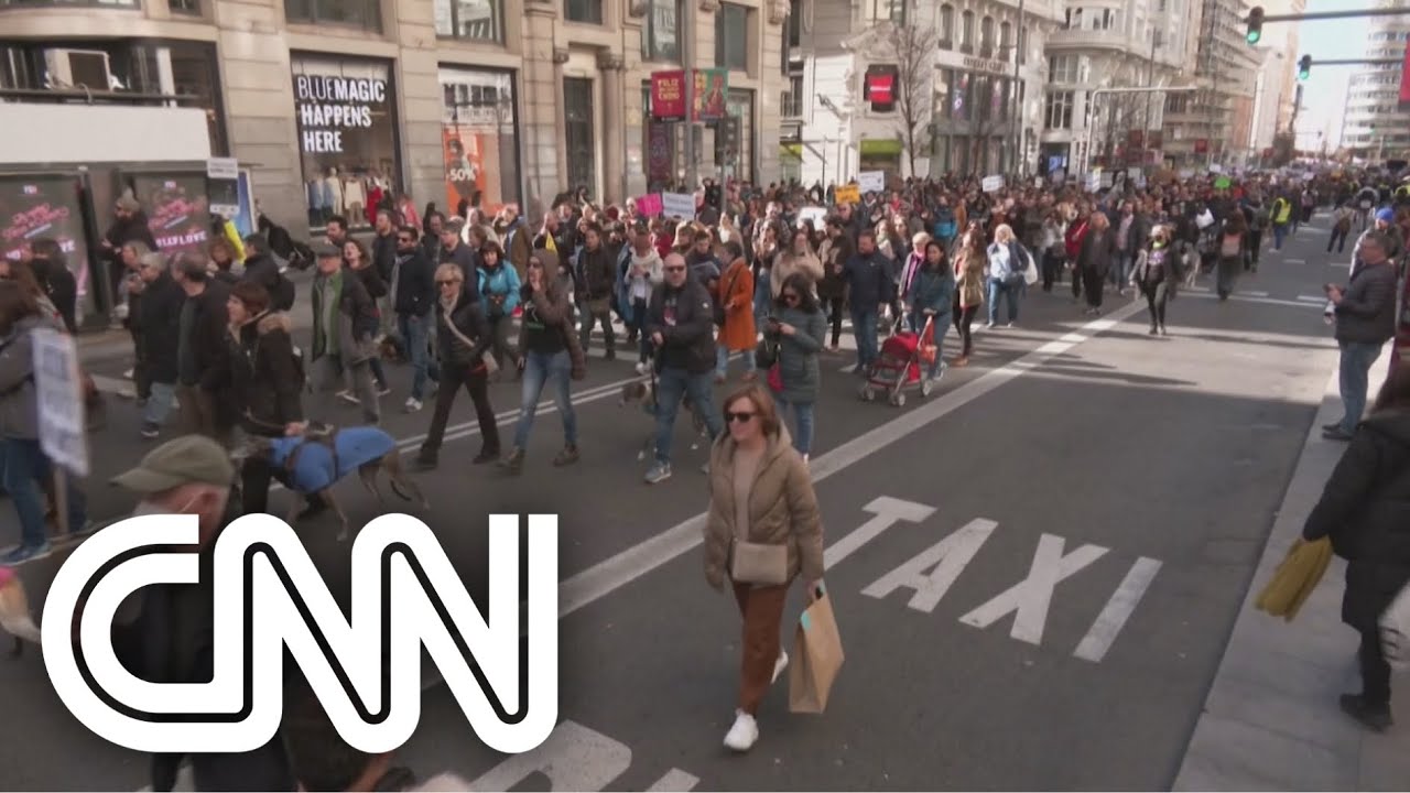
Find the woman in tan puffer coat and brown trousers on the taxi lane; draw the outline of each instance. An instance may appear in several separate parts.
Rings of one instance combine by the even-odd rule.
[[[729,579],[744,621],[739,701],[725,745],[746,752],[759,739],[759,706],[788,666],[778,641],[788,588],[799,574],[809,603],[822,588],[822,518],[808,464],[764,388],[730,394],[725,422],[729,432],[711,449],[705,580],[723,590]]]

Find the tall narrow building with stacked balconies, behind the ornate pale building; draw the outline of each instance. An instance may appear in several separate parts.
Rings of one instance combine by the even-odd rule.
[[[1252,128],[1258,49],[1245,40],[1245,0],[1200,0],[1190,61],[1198,90],[1170,95],[1165,104],[1165,154],[1177,167],[1242,162]]]

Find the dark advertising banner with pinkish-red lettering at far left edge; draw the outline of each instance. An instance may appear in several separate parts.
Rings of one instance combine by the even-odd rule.
[[[0,175],[0,255],[18,260],[35,240],[59,244],[79,286],[79,313],[93,312],[79,185],[62,174]]]

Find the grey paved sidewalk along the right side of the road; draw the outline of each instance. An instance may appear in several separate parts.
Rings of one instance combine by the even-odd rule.
[[[1390,347],[1371,371],[1372,396]],[[1253,608],[1347,449],[1323,440],[1341,418],[1337,375],[1327,384],[1263,557],[1194,727],[1175,790],[1404,790],[1410,785],[1410,680],[1392,679],[1400,722],[1376,735],[1341,713],[1361,691],[1355,631],[1341,622],[1347,563],[1334,559],[1292,622]]]

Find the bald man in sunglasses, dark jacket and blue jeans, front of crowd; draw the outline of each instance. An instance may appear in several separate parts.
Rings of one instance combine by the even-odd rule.
[[[704,416],[711,439],[725,432],[715,413],[711,374],[715,371],[715,303],[705,285],[685,272],[685,258],[666,257],[664,281],[651,292],[646,309],[646,333],[656,350],[656,464],[646,483],[671,476],[671,436],[681,398],[689,396],[691,411]]]

